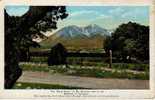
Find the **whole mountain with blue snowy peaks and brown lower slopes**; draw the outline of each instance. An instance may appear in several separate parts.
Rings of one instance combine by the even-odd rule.
[[[45,48],[51,48],[56,43],[62,43],[69,49],[103,48],[103,42],[107,35],[110,35],[108,30],[96,24],[86,27],[72,25],[58,30],[40,44]]]

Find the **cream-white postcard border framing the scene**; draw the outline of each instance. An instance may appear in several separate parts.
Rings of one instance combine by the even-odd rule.
[[[5,5],[98,5],[98,6],[150,6],[150,89],[145,90],[136,90],[136,89],[111,89],[111,90],[102,90],[104,95],[103,97],[99,97],[99,93],[96,94],[96,97],[90,97],[90,95],[93,95],[92,93],[89,93],[89,96],[85,97],[54,97],[54,93],[52,91],[54,90],[4,90],[4,6]],[[155,98],[155,1],[153,3],[153,0],[5,0],[0,1],[0,98],[22,98],[22,99],[47,99],[47,98],[55,98],[55,99],[151,99]],[[60,89],[59,89],[60,90]],[[55,90],[57,91],[57,90]],[[69,90],[64,90],[69,91]],[[70,90],[74,91],[74,90]],[[85,91],[85,90],[79,90],[79,91]],[[88,90],[86,90],[88,91]],[[89,90],[92,91],[92,90]],[[100,90],[97,90],[100,91]],[[49,95],[52,97],[35,97],[35,95]],[[58,95],[58,93],[56,93]],[[61,93],[60,93],[61,95]],[[108,97],[109,96],[109,97]],[[113,97],[114,96],[114,97]]]

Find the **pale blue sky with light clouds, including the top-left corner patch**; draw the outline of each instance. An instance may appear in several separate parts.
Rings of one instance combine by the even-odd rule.
[[[28,9],[28,6],[6,6],[7,12],[14,16],[21,16]],[[58,22],[58,28],[97,24],[106,29],[115,29],[129,21],[149,25],[148,6],[67,6],[67,12],[69,16]]]

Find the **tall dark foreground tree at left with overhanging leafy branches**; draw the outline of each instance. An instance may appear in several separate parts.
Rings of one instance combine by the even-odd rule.
[[[32,39],[41,31],[57,28],[57,21],[68,16],[65,6],[30,6],[20,17],[5,11],[5,88],[12,88],[21,76],[19,56],[21,48],[38,46]]]

